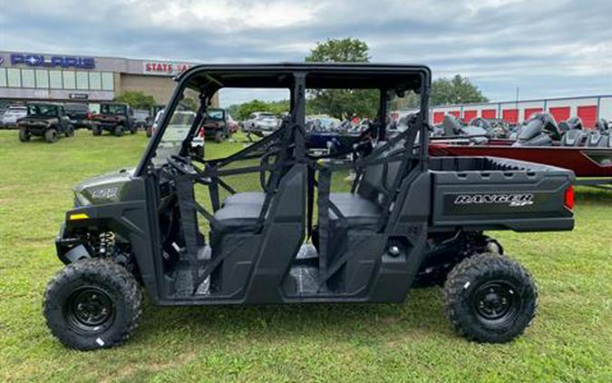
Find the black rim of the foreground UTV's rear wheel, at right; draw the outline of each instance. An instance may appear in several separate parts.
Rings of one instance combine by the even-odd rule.
[[[520,292],[509,281],[491,280],[471,294],[471,307],[484,323],[508,323],[520,311]]]

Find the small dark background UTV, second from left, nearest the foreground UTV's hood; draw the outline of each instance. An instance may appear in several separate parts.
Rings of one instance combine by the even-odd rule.
[[[101,103],[100,113],[92,116],[92,133],[101,135],[103,131],[121,137],[123,133],[138,132],[133,112],[127,103]]]

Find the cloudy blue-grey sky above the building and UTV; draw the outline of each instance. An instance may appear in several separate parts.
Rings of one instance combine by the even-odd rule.
[[[492,101],[612,93],[610,0],[0,0],[0,50],[198,63],[303,61],[353,37],[371,62],[461,74]],[[259,98],[278,99],[269,92]],[[246,101],[221,94],[221,103]]]

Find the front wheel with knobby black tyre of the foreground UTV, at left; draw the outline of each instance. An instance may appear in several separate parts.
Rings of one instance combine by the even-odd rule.
[[[109,260],[79,260],[60,270],[44,293],[44,318],[71,349],[102,349],[130,338],[141,318],[141,290]]]

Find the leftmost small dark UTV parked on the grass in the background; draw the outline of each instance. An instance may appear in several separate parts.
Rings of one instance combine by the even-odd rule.
[[[63,134],[74,135],[74,127],[62,105],[55,103],[28,103],[27,115],[17,120],[19,141],[28,142],[33,136],[43,137],[45,142],[56,142]]]

